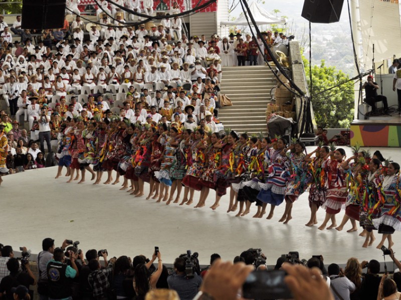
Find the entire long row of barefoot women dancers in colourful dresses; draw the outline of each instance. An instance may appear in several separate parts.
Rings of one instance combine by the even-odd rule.
[[[96,177],[94,184],[99,184],[107,172],[104,183],[109,184],[115,170],[117,178],[113,184],[123,176],[121,189],[128,189],[130,183],[128,191],[141,197],[144,182],[148,182],[146,199],[152,197],[166,204],[190,205],[194,192],[199,191],[194,207],[204,207],[214,189],[212,209],[220,205],[230,187],[227,212],[244,216],[255,203],[258,210],[254,217],[263,217],[271,204],[267,216],[271,219],[275,207],[285,202],[279,219],[284,223],[292,219],[293,203],[309,190],[311,217],[307,226],[317,224],[316,211],[323,207],[326,216],[319,229],[325,229],[331,220],[327,229],[342,230],[351,219],[352,228],[348,231],[355,231],[359,221],[364,228],[361,234],[366,236],[363,246],[372,244],[376,228],[383,233],[379,246],[385,239],[392,245],[392,229],[401,229],[399,194],[394,192],[399,189],[399,165],[392,162],[382,166],[376,156],[370,158],[364,151],[356,151],[345,159],[344,149],[319,146],[307,154],[302,142],[287,146],[284,137],[271,140],[235,131],[209,132],[204,126],[192,131],[175,122],[168,127],[165,123],[131,124],[120,118],[87,123],[67,119],[64,125],[56,177],[67,166],[69,182],[74,179],[75,170],[75,179],[79,179],[81,170],[80,182],[89,170],[93,179]],[[345,216],[337,226],[335,216],[342,208]]]

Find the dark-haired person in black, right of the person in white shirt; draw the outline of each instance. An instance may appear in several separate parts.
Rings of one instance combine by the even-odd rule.
[[[376,300],[377,292],[380,284],[380,262],[375,259],[367,262],[363,260],[360,264],[361,268],[367,267],[365,274],[362,274],[363,281],[360,288],[360,298],[363,300]]]

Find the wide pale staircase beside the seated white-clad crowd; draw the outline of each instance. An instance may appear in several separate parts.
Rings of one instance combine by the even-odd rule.
[[[232,66],[222,68],[221,93],[226,94],[233,106],[219,109],[219,119],[225,128],[238,133],[266,132],[266,108],[270,90],[276,79],[268,66]]]

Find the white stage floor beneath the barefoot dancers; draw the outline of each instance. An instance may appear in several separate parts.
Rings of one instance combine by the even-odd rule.
[[[312,148],[308,147],[308,151]],[[384,157],[398,157],[398,148],[380,150]],[[350,153],[349,149],[347,153]],[[193,205],[156,203],[144,196],[134,198],[119,190],[120,184],[65,183],[67,177],[54,179],[55,175],[56,167],[52,167],[3,177],[0,187],[1,243],[11,244],[16,250],[26,246],[38,253],[43,238],[55,238],[56,246],[67,238],[79,240],[84,251],[106,248],[109,255],[117,257],[151,256],[154,246],[159,246],[165,263],[172,263],[187,249],[199,252],[200,263],[208,264],[212,253],[232,260],[251,247],[262,248],[269,265],[274,265],[281,254],[289,251],[299,251],[300,258],[306,259],[323,254],[325,263],[345,263],[351,256],[382,261],[382,251],[376,249],[381,238],[377,233],[374,244],[362,248],[364,237],[358,236],[358,232],[346,232],[350,223],[341,232],[305,226],[310,216],[308,193],[294,203],[293,219],[283,224],[278,220],[284,204],[276,208],[271,220],[267,220],[266,215],[260,219],[252,218],[255,206],[247,216],[235,217],[233,212],[226,213],[228,194],[216,211],[209,208],[214,203],[213,190],[207,206],[199,209]],[[148,184],[145,184],[145,195],[147,192]],[[195,203],[197,197],[195,192]],[[318,225],[323,221],[324,213],[319,209]],[[342,216],[343,212],[337,215],[337,224]],[[401,245],[401,233],[395,232],[393,240],[396,251]]]

